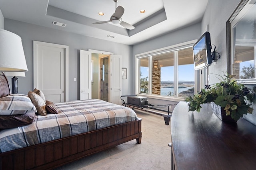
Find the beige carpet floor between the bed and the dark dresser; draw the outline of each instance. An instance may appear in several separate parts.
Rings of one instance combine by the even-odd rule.
[[[170,124],[162,116],[135,111],[142,118],[141,144],[134,139],[55,170],[170,170]]]

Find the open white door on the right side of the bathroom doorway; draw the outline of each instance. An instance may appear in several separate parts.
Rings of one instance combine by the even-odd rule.
[[[110,103],[121,105],[122,56],[110,55]]]

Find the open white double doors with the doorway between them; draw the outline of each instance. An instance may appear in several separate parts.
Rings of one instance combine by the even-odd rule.
[[[121,105],[122,56],[110,52],[80,50],[80,100],[100,99],[100,57],[108,56],[108,102]],[[94,63],[92,65],[92,63]],[[93,69],[92,69],[93,68]],[[103,69],[102,69],[103,70]],[[102,77],[103,78],[103,77]],[[107,86],[106,86],[107,87]],[[104,90],[107,92],[107,90]]]

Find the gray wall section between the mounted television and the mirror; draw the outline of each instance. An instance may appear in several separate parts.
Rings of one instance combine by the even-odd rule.
[[[208,25],[211,43],[216,45],[216,51],[220,53],[220,59],[217,63],[208,68],[210,73],[209,84],[219,82],[214,74],[223,75],[223,72],[227,71],[226,21],[228,21],[239,2],[240,0],[209,0],[208,2],[202,20],[202,31]]]

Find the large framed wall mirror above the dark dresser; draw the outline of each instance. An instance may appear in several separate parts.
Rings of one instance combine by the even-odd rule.
[[[256,0],[241,0],[226,22],[227,72],[256,84]]]

